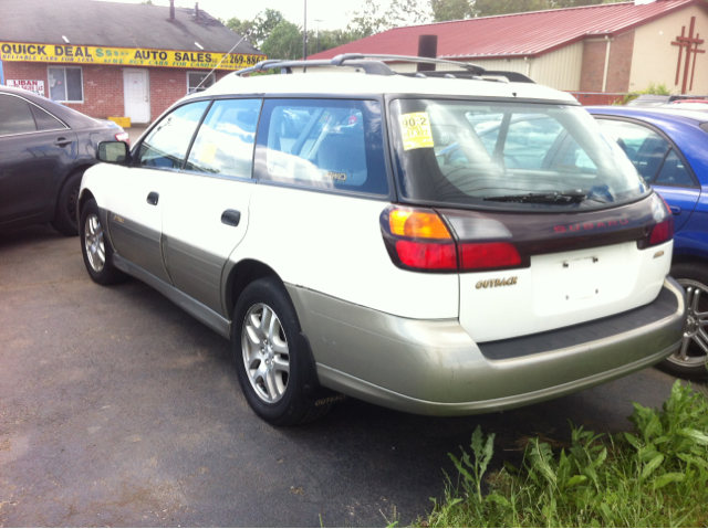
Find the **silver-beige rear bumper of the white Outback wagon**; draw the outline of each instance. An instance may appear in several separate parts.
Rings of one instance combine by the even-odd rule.
[[[478,346],[458,320],[406,319],[287,286],[323,385],[426,415],[507,410],[620,378],[670,356],[686,320],[684,292],[667,277],[634,317]]]

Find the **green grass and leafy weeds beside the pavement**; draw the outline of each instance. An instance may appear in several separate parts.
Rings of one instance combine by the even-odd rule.
[[[471,455],[444,501],[418,527],[706,527],[708,401],[679,382],[662,410],[634,404],[634,432],[572,427],[565,446],[525,441],[519,468],[486,476],[494,435],[472,435]],[[486,491],[486,494],[483,494]]]

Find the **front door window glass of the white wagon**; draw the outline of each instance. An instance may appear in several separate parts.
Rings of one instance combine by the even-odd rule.
[[[181,169],[191,138],[209,102],[183,105],[163,118],[140,144],[137,165]]]

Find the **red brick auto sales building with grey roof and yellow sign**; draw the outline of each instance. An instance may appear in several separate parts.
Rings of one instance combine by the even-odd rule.
[[[266,59],[239,41],[198,4],[8,0],[0,14],[0,84],[88,116],[149,123],[187,93]]]

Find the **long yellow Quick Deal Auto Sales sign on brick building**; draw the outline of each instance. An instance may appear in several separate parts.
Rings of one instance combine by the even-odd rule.
[[[266,55],[233,53],[0,42],[0,61],[115,64],[171,68],[214,68],[218,64],[219,68],[223,70],[241,70],[252,66],[264,59]]]

